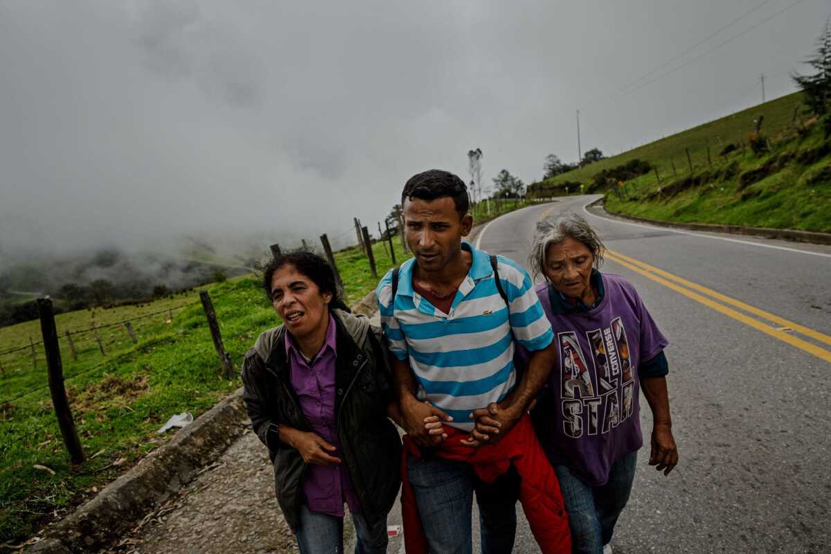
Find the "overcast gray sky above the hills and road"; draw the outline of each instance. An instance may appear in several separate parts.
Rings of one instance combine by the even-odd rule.
[[[617,153],[758,103],[761,73],[793,91],[831,15],[793,3],[0,0],[0,255],[354,238],[475,147],[485,184],[532,182],[577,159],[577,109]]]

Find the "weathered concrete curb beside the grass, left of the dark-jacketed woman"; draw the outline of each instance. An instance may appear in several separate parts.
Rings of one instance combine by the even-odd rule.
[[[135,527],[243,434],[248,414],[242,394],[240,387],[180,429],[168,444],[107,485],[96,498],[48,527],[44,540],[26,552],[90,552]]]

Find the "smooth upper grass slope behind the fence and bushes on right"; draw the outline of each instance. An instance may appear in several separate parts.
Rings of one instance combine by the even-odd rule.
[[[801,102],[801,93],[782,96],[776,100],[755,105],[752,108],[727,115],[719,120],[698,125],[692,129],[676,133],[666,139],[656,140],[648,145],[640,146],[611,158],[602,159],[583,168],[569,171],[552,179],[546,179],[543,184],[558,184],[566,181],[578,181],[588,184],[594,174],[602,169],[611,169],[626,164],[632,159],[642,159],[656,166],[661,175],[672,174],[672,163],[677,172],[689,172],[686,159],[686,150],[690,150],[694,168],[703,168],[707,165],[707,145],[710,145],[711,159],[715,162],[719,152],[725,145],[747,141],[748,135],[754,129],[754,120],[759,115],[765,115],[762,131],[766,135],[774,136],[780,130],[790,125],[794,118],[794,108]]]

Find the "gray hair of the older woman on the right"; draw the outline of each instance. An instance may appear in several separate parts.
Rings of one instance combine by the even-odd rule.
[[[566,238],[573,238],[586,245],[594,257],[594,267],[603,263],[603,246],[600,237],[583,216],[573,212],[562,213],[557,216],[549,215],[537,223],[534,238],[531,243],[531,253],[528,257],[531,272],[534,278],[545,277],[545,254],[552,244],[562,243]]]

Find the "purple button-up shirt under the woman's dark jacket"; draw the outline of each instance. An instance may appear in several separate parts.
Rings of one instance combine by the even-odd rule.
[[[306,416],[312,431],[327,443],[337,447],[331,456],[341,458],[342,463],[316,465],[309,463],[303,478],[302,491],[310,512],[326,513],[343,517],[343,503],[350,512],[360,512],[352,482],[349,479],[346,460],[343,459],[341,444],[337,440],[337,419],[335,414],[335,361],[337,358],[337,326],[329,314],[326,341],[311,361],[306,361],[290,332],[286,333],[286,355],[291,368],[291,382],[300,409]]]

